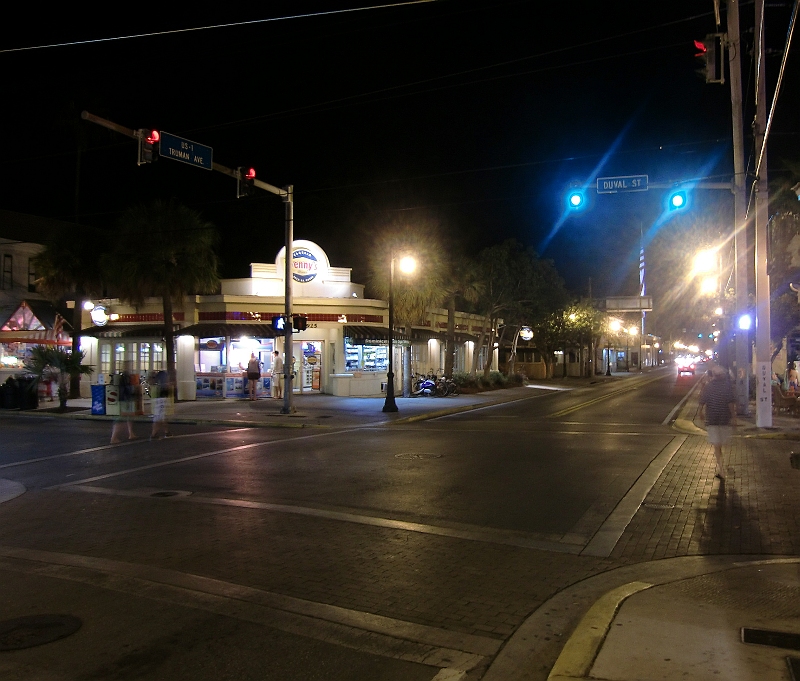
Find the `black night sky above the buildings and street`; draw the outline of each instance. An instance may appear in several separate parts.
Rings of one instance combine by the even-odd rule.
[[[692,45],[716,31],[712,0],[438,0],[297,16],[365,6],[128,5],[112,16],[19,5],[22,20],[0,29],[0,208],[75,220],[82,143],[79,222],[111,230],[127,206],[176,197],[220,229],[223,276],[274,260],[279,198],[237,200],[233,179],[167,159],[137,167],[135,141],[82,122],[87,109],[211,146],[216,162],[251,165],[270,184],[293,184],[295,238],[319,243],[356,281],[366,278],[376,231],[433,221],[452,239],[443,247],[475,254],[515,237],[554,259],[574,292],[585,294],[591,279],[595,296],[631,295],[639,234],[657,221],[664,192],[590,192],[589,208],[560,223],[567,185],[633,174],[651,183],[730,179],[729,89],[695,73]],[[770,88],[791,6],[768,3]],[[742,4],[747,51],[753,12]],[[7,51],[246,21],[257,23]],[[744,62],[749,124],[749,54]],[[800,158],[799,72],[795,45],[770,142],[776,174],[784,158]],[[692,211],[715,216],[724,232],[731,205],[725,192],[695,192]]]

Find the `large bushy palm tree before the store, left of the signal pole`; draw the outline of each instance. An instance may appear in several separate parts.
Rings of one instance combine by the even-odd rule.
[[[138,306],[145,298],[161,298],[167,372],[174,383],[173,304],[187,294],[219,290],[219,236],[200,213],[174,200],[129,208],[119,226],[104,269],[121,299]]]

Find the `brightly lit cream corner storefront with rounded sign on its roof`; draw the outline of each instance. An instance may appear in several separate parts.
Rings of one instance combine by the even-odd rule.
[[[365,299],[364,286],[350,281],[350,269],[331,267],[316,244],[295,241],[292,250],[292,309],[306,322],[304,330],[293,334],[295,390],[380,396],[388,367],[387,303]],[[274,264],[253,263],[249,278],[223,280],[219,295],[184,299],[173,315],[178,399],[243,396],[251,353],[263,367],[259,394],[268,394],[272,353],[284,352],[283,333],[273,327],[273,318],[284,311],[283,258],[281,249]],[[160,301],[139,309],[117,300],[92,302],[94,309],[85,312],[81,349],[95,374],[82,393],[90,392],[90,382],[108,381],[123,368],[142,376],[166,368]],[[456,323],[456,366],[463,370],[472,362],[481,320],[457,313]],[[395,332],[398,387],[404,371],[441,370],[446,328],[446,311],[433,310],[424,325]],[[403,362],[406,348],[410,365]]]

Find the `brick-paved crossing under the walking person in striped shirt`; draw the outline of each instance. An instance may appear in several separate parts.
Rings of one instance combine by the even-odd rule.
[[[706,554],[800,553],[796,443],[734,437],[727,479],[714,478],[711,445],[690,436],[648,494],[612,558],[637,562]]]

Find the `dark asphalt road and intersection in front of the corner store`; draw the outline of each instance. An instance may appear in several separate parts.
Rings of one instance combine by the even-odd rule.
[[[0,478],[27,491],[0,504],[0,621],[83,626],[0,653],[0,674],[478,679],[539,604],[613,566],[598,537],[678,446],[694,380],[114,447],[106,423],[2,416]]]

